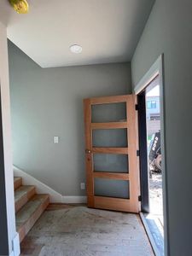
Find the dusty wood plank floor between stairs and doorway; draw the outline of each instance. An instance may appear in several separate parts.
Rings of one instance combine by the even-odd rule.
[[[136,214],[84,205],[49,205],[25,240],[20,256],[154,255]]]

